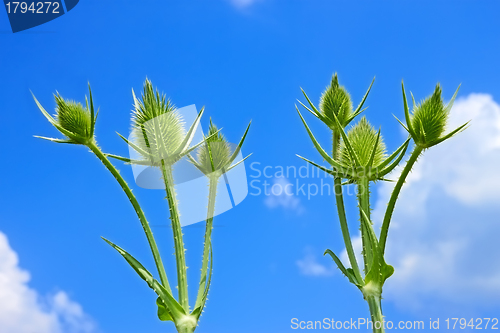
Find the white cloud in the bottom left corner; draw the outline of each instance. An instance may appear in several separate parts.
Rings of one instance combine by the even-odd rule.
[[[0,332],[96,332],[92,320],[64,291],[41,297],[28,286],[29,280],[29,273],[19,267],[17,253],[0,232]]]

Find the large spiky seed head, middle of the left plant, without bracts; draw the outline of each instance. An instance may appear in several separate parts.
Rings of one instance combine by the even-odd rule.
[[[132,134],[136,145],[150,154],[144,158],[153,165],[173,158],[186,134],[184,121],[176,107],[165,94],[155,90],[148,79],[144,82],[141,99],[134,95]]]

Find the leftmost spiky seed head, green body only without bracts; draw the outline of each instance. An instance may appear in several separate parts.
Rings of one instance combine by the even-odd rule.
[[[79,144],[87,144],[93,140],[92,118],[90,110],[84,108],[81,103],[65,100],[57,93],[55,120],[65,130],[74,134],[72,141]]]

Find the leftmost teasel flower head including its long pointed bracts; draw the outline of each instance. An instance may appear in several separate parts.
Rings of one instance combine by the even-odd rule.
[[[97,112],[94,112],[94,102],[92,99],[92,90],[89,85],[90,102],[85,96],[85,107],[78,102],[67,100],[56,92],[54,95],[56,101],[56,114],[52,117],[42,107],[40,102],[33,95],[33,98],[43,115],[47,120],[61,132],[66,139],[54,139],[47,137],[38,138],[58,142],[73,143],[88,146],[94,143],[94,129],[97,118]]]

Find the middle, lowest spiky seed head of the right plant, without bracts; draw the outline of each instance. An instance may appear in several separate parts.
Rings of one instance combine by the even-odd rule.
[[[366,117],[362,117],[360,121],[355,124],[347,132],[347,138],[352,146],[352,149],[358,157],[359,163],[361,165],[355,165],[353,159],[351,158],[349,151],[345,145],[345,142],[341,143],[340,147],[340,161],[344,165],[352,167],[366,167],[370,162],[375,143],[377,142],[378,132],[375,128],[370,125]],[[373,166],[377,166],[383,162],[386,156],[386,148],[382,136],[380,136],[377,147],[375,150],[375,155],[373,157]]]

